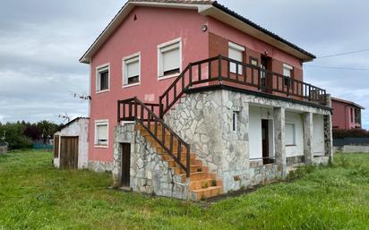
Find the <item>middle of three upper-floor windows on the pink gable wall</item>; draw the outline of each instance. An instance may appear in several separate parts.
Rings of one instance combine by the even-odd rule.
[[[123,85],[133,86],[140,83],[141,55],[140,53],[123,59]]]

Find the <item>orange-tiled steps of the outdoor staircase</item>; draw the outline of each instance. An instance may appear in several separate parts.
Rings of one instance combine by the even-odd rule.
[[[150,130],[154,129],[154,125],[150,126]],[[158,154],[161,156],[161,159],[167,161],[168,166],[174,172],[175,175],[179,175],[182,177],[182,182],[186,183],[187,176],[185,170],[181,168],[178,163],[167,153],[165,149],[159,144],[158,141],[154,139],[154,137],[146,130],[142,124],[136,124],[135,129],[140,132],[140,134],[150,142],[151,146],[154,149],[157,149]],[[158,129],[157,138],[162,138],[162,129]],[[169,148],[170,134],[165,133],[165,145]],[[173,149],[176,158],[178,158],[178,149],[177,143],[174,142]],[[182,153],[185,152],[185,148],[182,147]],[[181,163],[186,165],[187,159],[185,154],[181,154]],[[191,153],[190,156],[190,176],[189,176],[189,189],[191,192],[191,199],[193,200],[204,200],[210,197],[218,196],[223,193],[223,183],[217,178],[216,174],[209,172],[209,167],[202,165],[202,160],[196,158],[196,155]]]

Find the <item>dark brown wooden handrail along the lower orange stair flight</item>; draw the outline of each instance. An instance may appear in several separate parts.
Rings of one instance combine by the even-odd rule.
[[[126,109],[127,106],[128,111]],[[187,178],[189,178],[191,172],[190,146],[183,141],[176,132],[167,126],[167,124],[165,124],[164,121],[150,109],[150,106],[159,107],[159,104],[145,104],[138,98],[118,100],[118,124],[122,121],[136,121],[139,124],[142,124],[145,130],[150,133],[150,136],[159,143],[161,148],[164,149],[171,158],[176,161],[176,164],[185,171]],[[151,127],[151,124],[153,127]],[[161,133],[159,133],[160,129]],[[166,140],[167,134],[169,135],[169,140]],[[168,146],[166,145],[166,141],[169,141]],[[177,149],[174,149],[175,143],[177,144]],[[185,148],[185,165],[181,161],[183,152],[182,147]]]

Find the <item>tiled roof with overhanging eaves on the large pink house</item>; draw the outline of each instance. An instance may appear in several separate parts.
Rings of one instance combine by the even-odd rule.
[[[315,55],[305,51],[301,47],[288,42],[286,39],[279,37],[270,30],[262,28],[260,25],[254,23],[241,16],[240,14],[228,9],[226,6],[219,4],[217,1],[210,0],[129,0],[120,9],[112,21],[109,22],[105,30],[103,30],[99,37],[95,39],[89,49],[82,55],[80,62],[90,64],[90,58],[95,55],[109,36],[116,30],[116,28],[124,21],[125,17],[133,10],[135,6],[152,6],[152,7],[169,7],[181,9],[193,9],[198,13],[216,18],[228,25],[242,30],[245,33],[259,38],[262,41],[287,52],[290,55],[295,55],[302,61],[312,61]]]

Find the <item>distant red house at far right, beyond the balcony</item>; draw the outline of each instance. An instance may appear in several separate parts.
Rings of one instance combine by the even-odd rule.
[[[333,129],[361,129],[361,110],[365,107],[339,98],[331,98]]]

